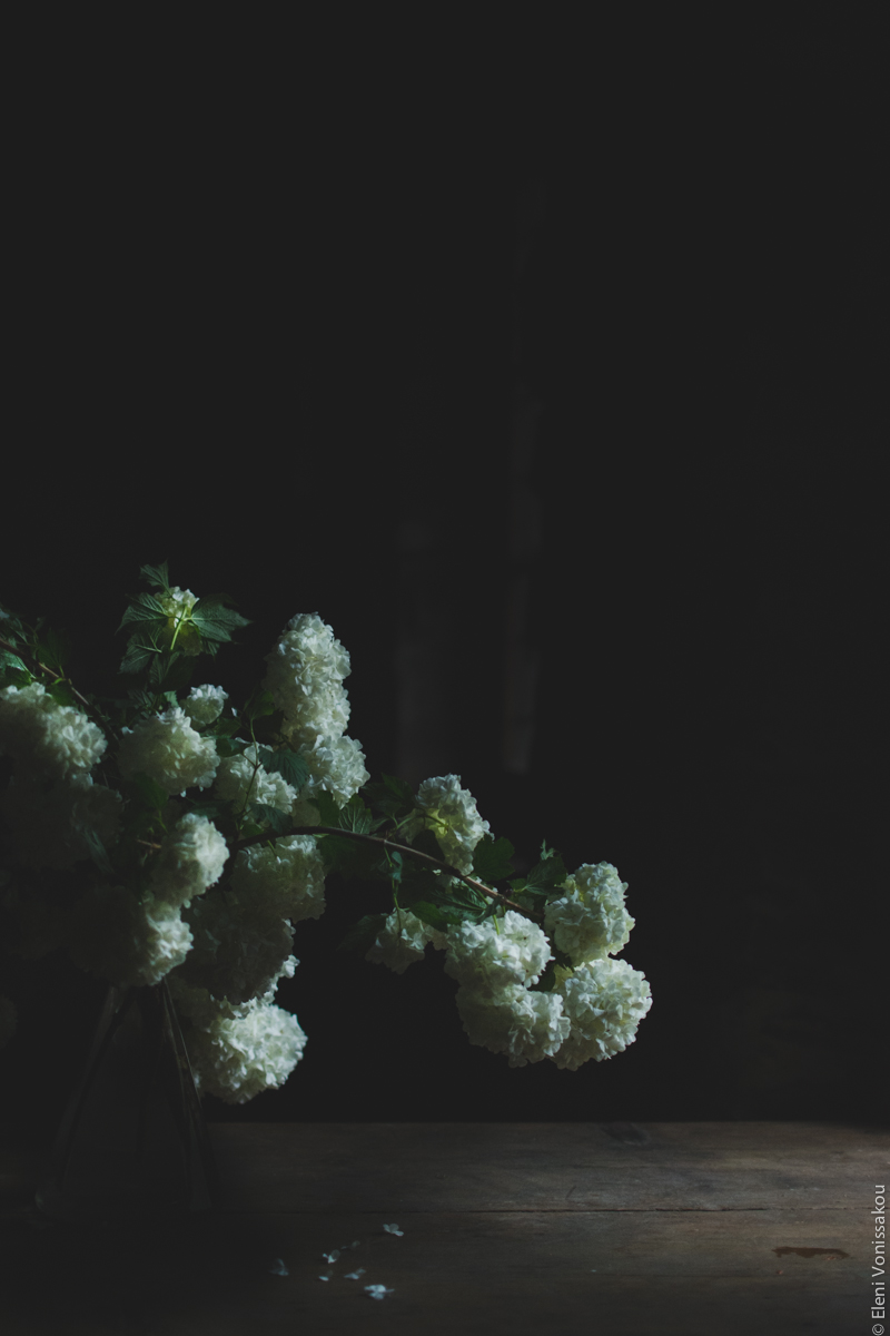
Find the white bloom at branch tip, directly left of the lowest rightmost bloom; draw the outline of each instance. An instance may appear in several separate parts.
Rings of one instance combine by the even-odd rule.
[[[568,1035],[556,993],[532,993],[522,983],[495,990],[462,986],[456,1003],[470,1042],[506,1053],[511,1067],[552,1057]]]

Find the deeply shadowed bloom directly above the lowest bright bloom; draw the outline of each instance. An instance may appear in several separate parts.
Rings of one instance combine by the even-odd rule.
[[[195,937],[183,978],[230,1002],[263,994],[294,946],[287,919],[234,891],[216,888],[199,895],[183,916]]]

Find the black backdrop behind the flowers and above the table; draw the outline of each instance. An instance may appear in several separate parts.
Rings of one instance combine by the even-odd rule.
[[[883,1117],[870,15],[35,56],[4,601],[111,691],[168,558],[252,619],[196,676],[235,701],[318,611],[374,775],[460,774],[519,868],[616,864],[652,987],[624,1054],[510,1070],[440,954],[332,954],[386,907],[332,879],[303,1061],[211,1120]],[[13,974],[5,1106],[51,1128],[103,989]]]

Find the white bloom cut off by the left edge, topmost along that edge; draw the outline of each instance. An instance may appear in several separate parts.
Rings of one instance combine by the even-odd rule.
[[[0,691],[0,756],[31,779],[69,779],[93,768],[108,741],[73,705],[60,705],[37,681]]]

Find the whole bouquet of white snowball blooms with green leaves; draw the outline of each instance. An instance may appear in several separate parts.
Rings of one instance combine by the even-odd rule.
[[[316,613],[291,619],[240,708],[191,687],[196,657],[250,623],[171,585],[167,562],[140,574],[123,699],[76,689],[64,639],[0,605],[0,953],[64,950],[119,987],[165,979],[199,1093],[244,1104],[303,1054],[275,990],[339,874],[392,895],[343,949],[396,974],[444,951],[470,1041],[511,1067],[575,1070],[634,1041],[651,997],[614,959],[634,919],[610,863],[570,875],[543,844],[516,876],[459,775],[371,783],[346,735],[350,656]],[[0,1045],[15,1027],[0,997]]]

